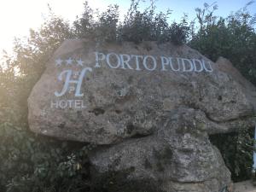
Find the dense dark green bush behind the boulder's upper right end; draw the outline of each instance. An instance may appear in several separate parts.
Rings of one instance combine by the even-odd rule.
[[[213,15],[216,5],[205,4],[204,9],[196,9],[200,29],[193,34],[189,46],[199,50],[212,61],[219,56],[228,58],[244,77],[256,84],[256,15],[247,11],[247,6],[228,18]]]

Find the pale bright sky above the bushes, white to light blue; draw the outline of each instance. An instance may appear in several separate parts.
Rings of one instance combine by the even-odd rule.
[[[142,3],[148,6],[148,0]],[[130,0],[89,0],[93,9],[105,10],[109,4],[118,4],[122,17],[130,7]],[[227,16],[231,11],[241,9],[249,0],[156,0],[157,11],[166,12],[172,10],[171,20],[180,20],[183,13],[189,15],[189,19],[195,18],[195,8],[202,8],[204,3],[216,2],[218,10],[216,15]],[[49,15],[48,4],[57,16],[72,22],[76,16],[82,15],[84,0],[0,0],[0,56],[2,50],[8,52],[12,48],[15,37],[28,36],[29,29],[39,28],[44,19]],[[256,14],[256,3],[249,7],[249,11]]]

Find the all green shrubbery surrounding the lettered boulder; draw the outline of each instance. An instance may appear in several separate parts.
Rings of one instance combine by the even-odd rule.
[[[256,84],[255,17],[247,9],[224,19],[214,16],[216,4],[205,3],[203,9],[196,9],[197,19],[191,24],[186,15],[179,23],[169,23],[171,11],[155,13],[154,1],[140,11],[139,3],[132,0],[125,20],[119,21],[117,5],[96,14],[85,2],[84,14],[73,25],[50,13],[38,31],[31,30],[27,39],[16,39],[14,55],[5,55],[5,67],[0,67],[0,191],[90,191],[87,154],[96,146],[39,137],[28,131],[27,125],[26,99],[43,73],[44,63],[67,38],[189,44],[212,61],[218,56],[230,59]],[[211,137],[235,181],[249,176],[252,136],[249,129],[243,129]]]

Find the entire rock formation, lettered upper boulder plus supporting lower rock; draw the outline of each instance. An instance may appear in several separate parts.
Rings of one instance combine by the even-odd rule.
[[[99,145],[96,191],[218,192],[230,172],[208,135],[253,126],[255,96],[230,61],[186,45],[69,39],[34,86],[28,121]]]

